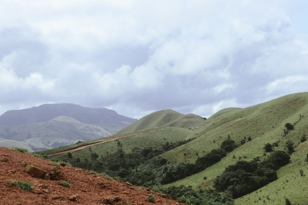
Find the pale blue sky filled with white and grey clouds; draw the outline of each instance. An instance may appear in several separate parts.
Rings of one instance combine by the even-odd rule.
[[[1,0],[0,114],[209,117],[308,91],[308,1]]]

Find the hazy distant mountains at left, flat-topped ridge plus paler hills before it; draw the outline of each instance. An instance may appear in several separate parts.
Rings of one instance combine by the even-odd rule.
[[[111,109],[67,103],[10,110],[0,116],[0,146],[56,148],[109,136],[135,121]]]

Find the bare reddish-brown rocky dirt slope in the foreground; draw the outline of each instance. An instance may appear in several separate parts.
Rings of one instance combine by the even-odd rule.
[[[24,191],[14,181],[30,182],[33,189]],[[61,180],[70,183],[70,188],[61,185]],[[155,203],[148,197],[155,197]],[[51,164],[37,156],[0,147],[0,204],[165,204],[183,205],[171,200],[170,195],[133,186],[128,182],[108,179],[89,171],[61,164]]]

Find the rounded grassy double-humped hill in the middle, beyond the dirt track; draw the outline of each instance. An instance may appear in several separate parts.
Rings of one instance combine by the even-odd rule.
[[[135,133],[140,130],[157,127],[191,128],[204,125],[205,121],[206,120],[204,120],[201,116],[194,114],[181,114],[170,109],[160,110],[140,118],[140,120],[137,120],[133,124],[128,125],[113,135]]]

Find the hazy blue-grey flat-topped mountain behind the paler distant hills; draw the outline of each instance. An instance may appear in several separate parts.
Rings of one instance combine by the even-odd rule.
[[[100,126],[111,133],[136,121],[136,119],[119,115],[107,108],[86,108],[77,104],[61,103],[6,111],[0,116],[0,125],[48,122],[57,116],[72,117],[84,124]]]

